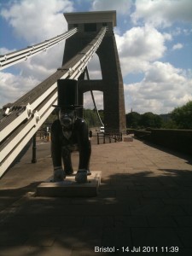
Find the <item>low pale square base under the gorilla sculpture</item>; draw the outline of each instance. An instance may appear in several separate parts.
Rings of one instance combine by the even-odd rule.
[[[36,195],[61,197],[90,197],[98,195],[102,172],[91,172],[91,175],[87,177],[87,183],[77,183],[75,174],[67,176],[65,180],[56,183],[51,182],[53,177],[49,177],[48,180],[38,185]]]

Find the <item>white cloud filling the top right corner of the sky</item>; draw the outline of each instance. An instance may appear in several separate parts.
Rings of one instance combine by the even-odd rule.
[[[192,20],[191,0],[137,0],[136,10],[131,15],[137,24],[140,20],[153,26],[171,26],[175,21],[189,22]]]

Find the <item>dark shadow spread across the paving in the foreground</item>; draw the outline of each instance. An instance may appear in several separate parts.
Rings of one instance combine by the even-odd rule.
[[[0,254],[191,255],[192,172],[159,171],[109,175],[91,198],[35,197],[38,183],[1,190]]]

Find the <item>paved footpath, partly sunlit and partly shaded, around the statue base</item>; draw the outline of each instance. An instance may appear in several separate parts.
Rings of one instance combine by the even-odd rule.
[[[52,174],[50,154],[36,164],[24,157],[0,180],[0,255],[191,256],[191,163],[136,139],[93,139],[90,169],[102,171],[99,195],[51,198],[33,193]]]

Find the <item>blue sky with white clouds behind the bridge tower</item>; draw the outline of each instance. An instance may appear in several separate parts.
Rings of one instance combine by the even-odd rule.
[[[191,0],[0,0],[0,55],[67,31],[63,13],[116,10],[125,113],[170,113],[192,100]],[[61,67],[65,41],[0,72],[0,108]],[[97,55],[90,79],[102,79]],[[98,109],[101,92],[94,92]],[[90,93],[84,108],[94,108]]]

